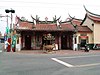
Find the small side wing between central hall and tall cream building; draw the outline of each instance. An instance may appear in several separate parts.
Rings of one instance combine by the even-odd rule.
[[[90,44],[92,30],[88,26],[81,25],[83,20],[72,18],[71,24],[75,27],[73,35],[73,50],[81,50],[86,44]]]

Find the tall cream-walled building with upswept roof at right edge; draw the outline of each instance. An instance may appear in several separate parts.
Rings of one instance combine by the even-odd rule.
[[[100,35],[98,34],[100,32],[100,15],[88,11],[86,8],[85,10],[86,15],[81,25],[91,29],[92,32],[87,43],[93,49],[96,45],[100,45]]]

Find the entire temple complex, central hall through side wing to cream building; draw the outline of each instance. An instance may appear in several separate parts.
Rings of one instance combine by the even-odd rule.
[[[100,15],[91,13],[86,8],[85,10],[83,20],[69,15],[64,22],[56,16],[53,21],[48,21],[47,17],[45,21],[39,20],[38,16],[31,16],[33,21],[17,17],[14,28],[18,35],[16,50],[41,50],[47,44],[56,44],[57,50],[79,50],[85,45],[93,49],[95,44],[100,44]]]

